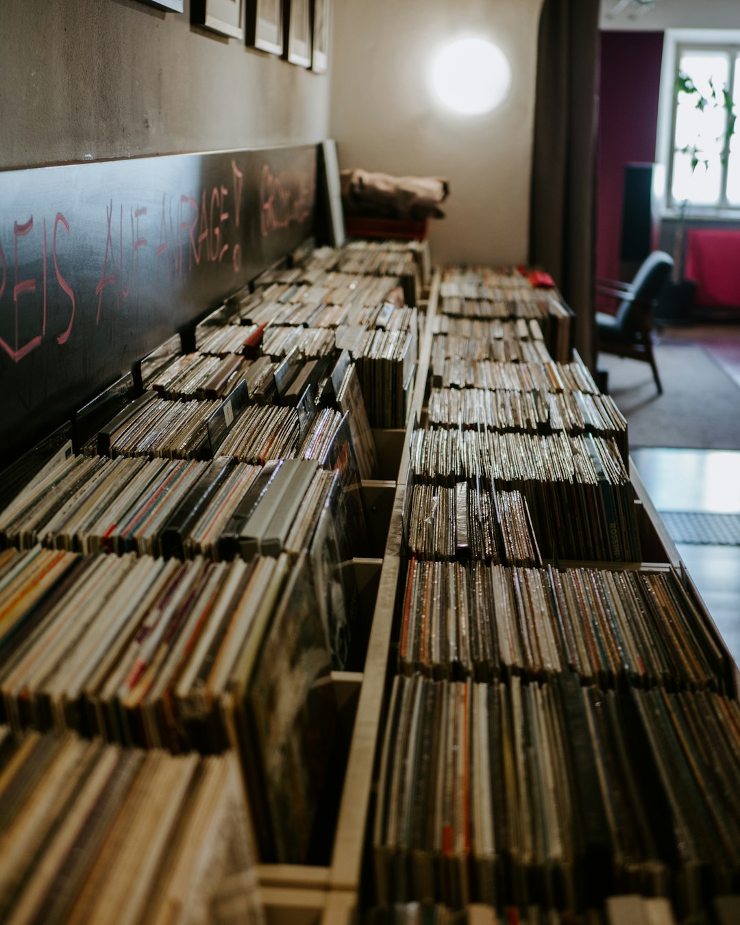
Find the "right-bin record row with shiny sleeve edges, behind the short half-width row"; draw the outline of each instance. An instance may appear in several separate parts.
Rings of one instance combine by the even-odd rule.
[[[613,439],[562,432],[547,436],[417,428],[411,441],[409,473],[414,491],[407,488],[407,537],[419,529],[410,523],[413,499],[419,496],[417,484],[437,486],[429,493],[437,502],[422,525],[425,536],[439,534],[431,553],[435,549],[437,554],[447,553],[457,546],[452,527],[439,523],[441,512],[454,512],[454,504],[443,505],[441,499],[447,497],[445,487],[456,491],[455,486],[467,483],[471,491],[463,497],[473,512],[483,506],[478,520],[484,532],[492,529],[485,513],[492,510],[487,495],[492,499],[496,490],[516,491],[526,501],[526,518],[531,520],[533,537],[545,558],[640,561],[635,490]],[[450,523],[455,523],[454,517]],[[417,544],[414,549],[421,554]]]

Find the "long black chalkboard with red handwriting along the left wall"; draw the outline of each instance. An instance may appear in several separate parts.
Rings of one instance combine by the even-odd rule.
[[[0,171],[0,465],[314,231],[314,145]]]

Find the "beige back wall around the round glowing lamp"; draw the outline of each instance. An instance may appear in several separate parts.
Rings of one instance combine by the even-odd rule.
[[[431,222],[439,262],[523,262],[527,255],[542,0],[335,0],[330,131],[339,166],[450,180],[447,217]],[[426,87],[432,50],[480,32],[512,66],[493,113],[454,117]]]

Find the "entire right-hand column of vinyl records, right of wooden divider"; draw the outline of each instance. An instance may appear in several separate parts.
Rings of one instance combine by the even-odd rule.
[[[502,321],[521,285],[443,281],[401,512],[373,895],[601,921],[609,907],[586,910],[638,893],[663,899],[656,920],[704,923],[740,892],[734,665],[683,573],[611,564],[641,559],[626,425],[577,355],[544,356],[536,318]],[[632,898],[619,920],[652,920]]]

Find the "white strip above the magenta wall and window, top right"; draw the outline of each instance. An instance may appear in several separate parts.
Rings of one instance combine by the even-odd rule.
[[[632,4],[611,18],[617,0],[601,0],[601,29],[662,31],[664,29],[740,29],[738,0],[656,0],[645,14],[632,19]]]

